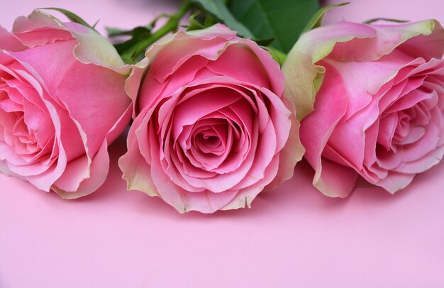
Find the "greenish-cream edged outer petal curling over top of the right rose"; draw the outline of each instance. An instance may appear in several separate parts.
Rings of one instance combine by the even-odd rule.
[[[338,60],[378,60],[402,43],[404,51],[414,48],[414,57],[442,57],[442,34],[438,21],[428,20],[396,28],[342,21],[301,35],[282,66],[286,94],[298,109],[298,119],[313,111],[316,87],[321,85],[324,71],[316,65],[319,60],[330,54],[329,57]],[[431,35],[431,42],[424,45],[423,41],[415,40],[420,35]]]

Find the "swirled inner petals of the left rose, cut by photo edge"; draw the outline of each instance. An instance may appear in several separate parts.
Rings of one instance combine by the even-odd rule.
[[[37,175],[57,159],[55,128],[43,103],[43,90],[18,62],[0,63],[0,146],[1,159],[22,176]],[[38,87],[37,87],[38,88]]]

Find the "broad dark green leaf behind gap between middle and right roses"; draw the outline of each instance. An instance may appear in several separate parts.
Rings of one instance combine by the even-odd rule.
[[[272,47],[288,52],[319,4],[317,0],[230,0],[228,9],[255,39],[274,38]]]

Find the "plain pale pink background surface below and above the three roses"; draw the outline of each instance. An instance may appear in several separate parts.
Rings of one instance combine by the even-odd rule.
[[[338,3],[339,1],[331,1]],[[60,6],[89,23],[131,28],[176,1],[8,1],[0,23]],[[444,21],[442,0],[353,1],[327,22],[379,16]],[[444,163],[394,196],[330,199],[306,163],[252,209],[177,214],[126,192],[111,146],[104,187],[74,201],[0,175],[0,287],[444,287]]]

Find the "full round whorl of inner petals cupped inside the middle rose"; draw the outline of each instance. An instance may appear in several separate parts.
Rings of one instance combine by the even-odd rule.
[[[152,113],[161,165],[188,191],[242,189],[264,178],[277,153],[274,125],[289,125],[289,111],[271,92],[218,81],[166,97]]]

